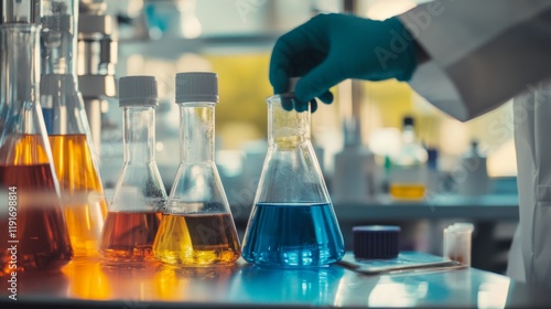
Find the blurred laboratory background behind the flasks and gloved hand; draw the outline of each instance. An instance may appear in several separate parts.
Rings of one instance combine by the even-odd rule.
[[[78,75],[106,193],[122,167],[117,79],[159,83],[156,163],[180,162],[174,78],[218,73],[216,163],[240,235],[267,151],[271,49],[317,13],[386,19],[414,0],[80,0]],[[347,248],[352,226],[396,224],[402,249],[442,253],[442,230],[474,223],[473,267],[505,273],[518,222],[512,106],[460,122],[396,81],[345,81],[312,116],[312,139]],[[397,181],[399,180],[399,181]]]

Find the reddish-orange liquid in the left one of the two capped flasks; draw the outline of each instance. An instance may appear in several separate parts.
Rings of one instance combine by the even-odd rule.
[[[109,212],[100,253],[114,260],[154,259],[153,241],[161,222],[159,212]]]

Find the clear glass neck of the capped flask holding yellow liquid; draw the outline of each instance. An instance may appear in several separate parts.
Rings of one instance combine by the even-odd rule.
[[[180,104],[182,162],[214,161],[214,103]]]

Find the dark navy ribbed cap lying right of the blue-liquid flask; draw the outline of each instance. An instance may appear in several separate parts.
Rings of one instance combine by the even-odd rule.
[[[400,226],[365,225],[354,226],[354,257],[395,258],[400,253]]]

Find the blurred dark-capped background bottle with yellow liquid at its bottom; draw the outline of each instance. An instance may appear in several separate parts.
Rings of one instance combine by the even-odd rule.
[[[403,118],[402,145],[392,158],[390,169],[390,196],[399,200],[419,200],[426,185],[426,150],[417,140],[414,119]]]

